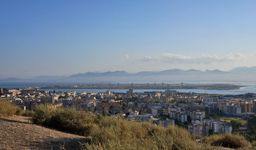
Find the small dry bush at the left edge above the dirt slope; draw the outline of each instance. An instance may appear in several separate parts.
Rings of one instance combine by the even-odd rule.
[[[7,100],[0,100],[0,117],[22,115],[23,110],[14,103]]]

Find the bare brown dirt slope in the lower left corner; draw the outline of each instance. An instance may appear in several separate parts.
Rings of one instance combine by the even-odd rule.
[[[84,137],[32,124],[29,117],[0,118],[0,149],[79,149]]]

